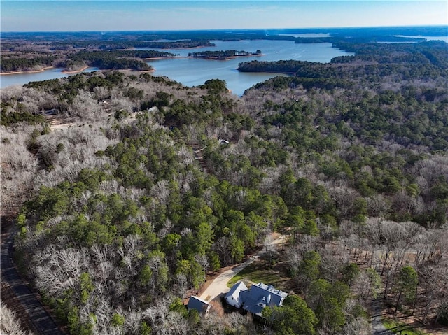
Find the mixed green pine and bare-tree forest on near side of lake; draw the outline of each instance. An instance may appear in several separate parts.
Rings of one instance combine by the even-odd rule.
[[[292,73],[242,97],[119,71],[1,90],[15,262],[69,334],[370,334],[375,301],[447,329],[447,43],[344,48],[240,64]],[[183,306],[274,232],[284,306]]]

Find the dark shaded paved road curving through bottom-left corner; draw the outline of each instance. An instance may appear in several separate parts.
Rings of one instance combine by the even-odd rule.
[[[5,234],[3,236],[6,240],[1,241],[1,281],[2,283],[8,283],[20,304],[25,308],[27,315],[20,315],[20,318],[31,320],[35,334],[63,335],[64,333],[57,327],[55,321],[45,311],[41,302],[36,299],[34,293],[29,290],[15,270],[11,257],[13,234],[10,234],[10,236]]]

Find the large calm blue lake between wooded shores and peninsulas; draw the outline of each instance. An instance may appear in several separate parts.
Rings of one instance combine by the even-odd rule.
[[[186,86],[202,85],[209,79],[225,80],[227,87],[233,93],[241,95],[245,90],[256,83],[279,76],[278,73],[243,73],[237,71],[240,62],[251,60],[277,61],[277,60],[301,60],[309,62],[327,63],[334,57],[353,55],[350,52],[332,48],[331,43],[295,44],[293,41],[269,41],[269,40],[244,40],[244,41],[211,41],[214,47],[194,49],[170,49],[164,50],[180,55],[174,59],[154,59],[148,62],[155,68],[154,76],[166,76]],[[158,50],[158,49],[151,49]],[[206,50],[244,50],[255,52],[261,50],[262,56],[237,57],[228,60],[210,60],[186,58],[188,52]],[[94,71],[93,68],[86,71]],[[18,75],[1,76],[0,87],[10,85],[23,85],[29,81],[62,78],[69,76],[62,73],[61,69],[50,69],[39,73],[21,73]],[[285,76],[285,75],[281,75]]]

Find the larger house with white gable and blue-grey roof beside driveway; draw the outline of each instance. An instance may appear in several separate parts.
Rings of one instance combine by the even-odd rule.
[[[225,301],[231,306],[242,308],[253,315],[262,316],[262,310],[266,306],[283,306],[283,301],[288,293],[276,290],[272,285],[263,283],[254,284],[250,289],[239,282],[225,294]]]

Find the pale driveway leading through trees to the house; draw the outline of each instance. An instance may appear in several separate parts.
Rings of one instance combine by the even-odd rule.
[[[287,237],[285,236],[285,242]],[[281,248],[281,245],[283,244],[283,236],[280,236],[279,238],[276,238],[272,243],[269,243],[272,249],[278,249]],[[217,276],[214,281],[207,287],[207,289],[202,292],[200,298],[211,301],[218,297],[221,293],[227,293],[229,292],[230,288],[227,287],[227,283],[230,279],[232,279],[237,273],[242,271],[246,266],[249,264],[252,264],[255,262],[256,259],[260,257],[260,255],[265,252],[265,249],[263,248],[257,254],[253,255],[251,258],[246,260],[246,262],[239,264],[238,266],[235,266],[234,268],[224,271],[219,276]]]

